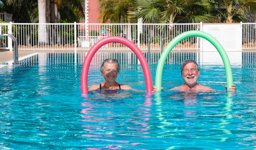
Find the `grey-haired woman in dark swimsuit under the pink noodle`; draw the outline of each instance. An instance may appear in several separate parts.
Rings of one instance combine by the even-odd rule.
[[[101,74],[103,75],[104,81],[101,84],[93,84],[89,90],[99,89],[132,89],[127,84],[116,83],[116,78],[120,71],[118,60],[116,59],[105,59],[100,68]]]

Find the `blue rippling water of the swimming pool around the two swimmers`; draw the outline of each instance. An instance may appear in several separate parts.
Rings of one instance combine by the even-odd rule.
[[[154,84],[160,54],[150,55]],[[218,63],[199,63],[199,84],[218,89],[213,93],[104,91],[81,96],[85,56],[37,54],[1,68],[0,149],[255,149],[255,53],[242,53],[242,62],[231,65],[238,89],[233,96],[225,92],[225,69]],[[199,56],[171,53],[164,89],[182,84],[181,62]],[[146,89],[132,53],[97,53],[89,86],[103,81],[99,63],[108,57],[121,63],[118,83]]]

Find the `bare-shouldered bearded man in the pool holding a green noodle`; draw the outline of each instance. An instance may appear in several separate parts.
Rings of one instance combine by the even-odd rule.
[[[187,59],[183,61],[181,64],[181,76],[184,79],[184,84],[181,86],[175,86],[174,88],[170,88],[167,90],[177,90],[177,91],[213,91],[208,86],[202,86],[198,84],[198,77],[200,76],[200,71],[198,68],[198,63],[192,59]],[[157,91],[155,87],[153,87],[153,91]],[[235,84],[231,86],[228,91],[237,91]]]

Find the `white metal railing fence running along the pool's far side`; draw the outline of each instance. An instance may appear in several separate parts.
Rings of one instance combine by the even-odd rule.
[[[241,23],[242,49],[256,50],[256,23]],[[88,50],[107,36],[126,37],[142,51],[162,51],[177,35],[191,30],[202,30],[203,24],[25,24],[0,23],[0,34],[13,34],[19,50],[51,50],[70,52]],[[184,39],[174,50],[199,51],[199,37]],[[1,40],[1,49],[11,49],[8,37]],[[119,43],[109,43],[101,49],[128,49]]]

